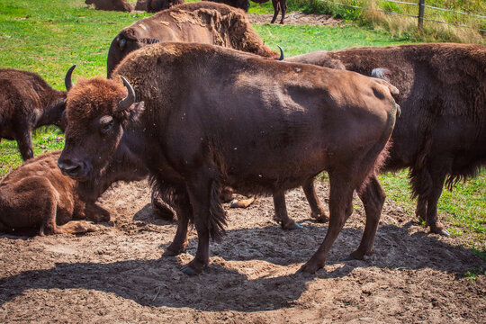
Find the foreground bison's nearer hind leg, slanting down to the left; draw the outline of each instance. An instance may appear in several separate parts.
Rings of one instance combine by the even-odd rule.
[[[353,212],[354,185],[350,185],[350,179],[347,176],[333,173],[329,173],[329,179],[329,229],[316,253],[300,270],[311,274],[324,267],[330,248],[336,238],[338,238],[338,234],[343,229],[347,218]]]

